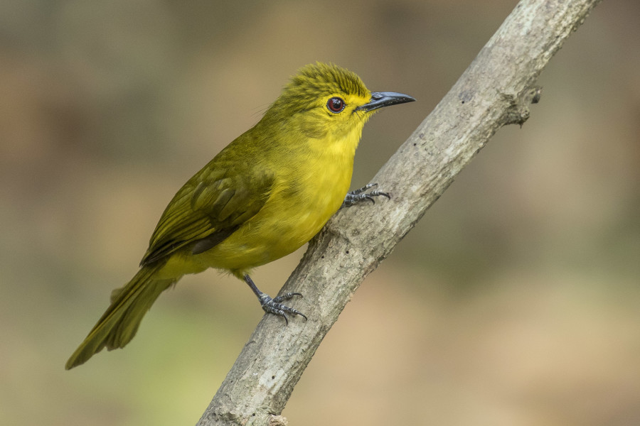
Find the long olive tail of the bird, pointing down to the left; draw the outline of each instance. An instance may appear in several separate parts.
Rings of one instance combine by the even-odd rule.
[[[73,352],[65,365],[67,370],[84,364],[105,347],[108,350],[123,348],[133,339],[146,311],[160,293],[177,280],[155,278],[162,266],[163,263],[144,266],[127,285],[113,290],[110,307]]]

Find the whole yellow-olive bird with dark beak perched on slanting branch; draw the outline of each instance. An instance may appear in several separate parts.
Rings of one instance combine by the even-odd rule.
[[[380,108],[413,102],[370,92],[355,73],[316,62],[298,70],[260,121],[193,175],[161,215],[140,268],[65,364],[84,364],[135,336],[156,298],[183,275],[208,268],[245,281],[265,312],[306,316],[270,297],[250,273],[299,249],[338,209],[389,197],[369,184],[348,192],[364,124]],[[375,203],[375,202],[374,202]]]

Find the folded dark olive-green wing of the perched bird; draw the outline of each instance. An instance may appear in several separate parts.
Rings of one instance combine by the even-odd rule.
[[[186,182],[166,207],[141,266],[190,244],[193,254],[207,251],[265,205],[274,181],[272,173],[210,165]]]

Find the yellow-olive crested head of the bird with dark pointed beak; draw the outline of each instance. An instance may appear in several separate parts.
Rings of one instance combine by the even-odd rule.
[[[370,92],[355,73],[316,62],[302,67],[265,114],[289,131],[308,138],[358,135],[378,109],[415,101],[395,92]],[[358,136],[359,138],[359,136]]]

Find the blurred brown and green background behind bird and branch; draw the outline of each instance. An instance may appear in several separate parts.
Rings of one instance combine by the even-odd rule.
[[[353,187],[516,1],[0,3],[0,423],[193,425],[262,317],[187,276],[127,349],[68,356],[176,190],[316,60],[418,99],[366,126]],[[640,424],[640,3],[604,1],[363,283],[292,425]],[[302,251],[253,278],[277,293]]]

